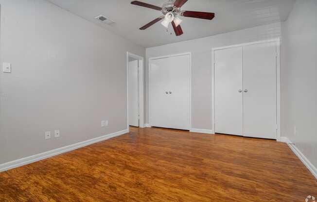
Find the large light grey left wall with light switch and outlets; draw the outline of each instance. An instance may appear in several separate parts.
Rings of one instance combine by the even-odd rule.
[[[126,51],[144,48],[44,0],[0,4],[0,164],[126,129]]]

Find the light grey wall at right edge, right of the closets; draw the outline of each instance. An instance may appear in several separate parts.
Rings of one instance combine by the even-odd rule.
[[[317,1],[297,0],[283,23],[282,136],[317,168]],[[295,134],[296,126],[296,134]]]

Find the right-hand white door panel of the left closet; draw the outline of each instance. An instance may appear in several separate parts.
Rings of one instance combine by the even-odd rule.
[[[190,130],[190,55],[169,58],[170,128]]]

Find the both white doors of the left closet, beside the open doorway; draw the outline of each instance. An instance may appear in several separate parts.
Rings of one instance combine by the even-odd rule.
[[[151,61],[152,126],[190,129],[190,74],[190,55]]]

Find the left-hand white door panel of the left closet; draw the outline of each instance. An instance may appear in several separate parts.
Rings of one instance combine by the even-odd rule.
[[[171,127],[170,111],[170,62],[169,58],[151,61],[150,96],[151,96],[151,125],[155,127]]]

